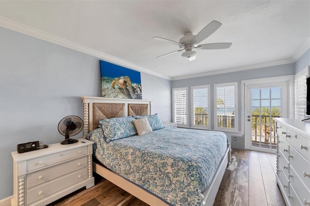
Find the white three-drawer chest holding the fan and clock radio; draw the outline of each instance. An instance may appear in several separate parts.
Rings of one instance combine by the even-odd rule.
[[[13,206],[47,205],[84,186],[93,187],[93,142],[49,145],[26,153],[12,152]]]

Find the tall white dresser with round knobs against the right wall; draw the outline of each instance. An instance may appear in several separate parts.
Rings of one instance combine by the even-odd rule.
[[[310,120],[275,118],[277,183],[288,206],[310,206]]]

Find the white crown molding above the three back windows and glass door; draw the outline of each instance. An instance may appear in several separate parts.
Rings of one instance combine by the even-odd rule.
[[[189,78],[210,76],[210,75],[216,75],[216,74],[240,72],[240,71],[258,69],[258,68],[263,68],[263,67],[271,67],[271,66],[277,66],[277,65],[282,65],[282,64],[290,64],[290,63],[294,63],[294,62],[295,62],[294,59],[283,59],[283,60],[279,60],[279,61],[265,62],[265,63],[260,63],[260,64],[242,66],[242,67],[234,67],[234,68],[228,68],[228,69],[217,70],[217,71],[212,71],[212,72],[205,72],[205,73],[200,73],[200,74],[172,77],[171,80],[174,81],[174,80],[189,79]]]

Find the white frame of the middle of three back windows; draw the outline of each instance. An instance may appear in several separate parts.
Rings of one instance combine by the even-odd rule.
[[[199,88],[207,88],[207,94],[208,94],[208,99],[207,99],[207,105],[208,105],[208,125],[203,126],[203,125],[194,125],[195,123],[195,114],[194,114],[194,89],[199,89]],[[210,130],[211,129],[211,118],[210,118],[210,102],[211,102],[211,97],[210,97],[210,85],[202,85],[202,86],[192,86],[191,87],[191,128],[195,129],[204,129],[204,130]]]

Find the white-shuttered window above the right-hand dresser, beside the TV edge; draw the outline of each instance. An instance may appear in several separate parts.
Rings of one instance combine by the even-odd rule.
[[[294,111],[295,118],[305,118],[306,114],[306,79],[308,68],[303,69],[294,77]]]

